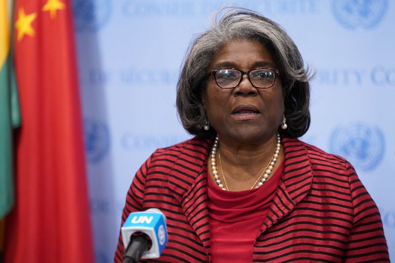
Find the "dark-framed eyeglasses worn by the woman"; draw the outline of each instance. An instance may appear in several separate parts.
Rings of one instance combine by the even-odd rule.
[[[231,89],[237,87],[243,75],[247,75],[255,88],[270,88],[275,84],[276,76],[280,72],[274,69],[253,69],[241,71],[237,69],[219,69],[207,73],[207,77],[215,76],[215,82],[220,88]]]

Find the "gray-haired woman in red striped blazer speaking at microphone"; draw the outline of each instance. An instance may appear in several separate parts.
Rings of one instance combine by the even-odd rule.
[[[389,261],[353,166],[297,139],[308,79],[295,43],[251,10],[227,9],[192,43],[177,108],[197,136],[150,156],[122,214],[166,215],[156,262]],[[123,251],[119,238],[115,262]]]

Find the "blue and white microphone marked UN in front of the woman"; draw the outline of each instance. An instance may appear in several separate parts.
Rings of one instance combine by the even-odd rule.
[[[166,217],[157,208],[130,213],[121,227],[121,234],[126,248],[122,263],[159,258],[168,240]]]

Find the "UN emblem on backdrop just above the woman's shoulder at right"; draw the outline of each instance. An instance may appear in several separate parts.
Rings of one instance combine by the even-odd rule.
[[[385,152],[385,140],[378,127],[357,123],[335,128],[330,137],[329,148],[356,168],[369,171],[381,162]]]

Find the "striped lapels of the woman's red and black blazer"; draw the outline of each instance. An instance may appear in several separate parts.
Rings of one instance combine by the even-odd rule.
[[[195,137],[182,144],[180,154],[170,173],[168,187],[180,202],[192,228],[209,255],[210,227],[207,198],[207,156],[213,138]],[[312,184],[312,166],[305,144],[298,139],[282,138],[284,150],[283,177],[276,190],[261,233],[290,213],[308,193]],[[183,163],[195,163],[194,169],[185,169]],[[183,169],[184,167],[184,169]],[[186,176],[186,174],[188,176]]]

